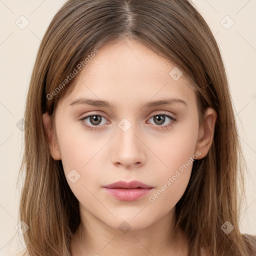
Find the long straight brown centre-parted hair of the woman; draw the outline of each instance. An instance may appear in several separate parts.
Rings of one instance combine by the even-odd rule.
[[[200,246],[212,256],[256,253],[252,237],[238,227],[245,163],[224,65],[212,32],[188,0],[69,0],[53,17],[36,56],[24,115],[19,218],[29,227],[23,234],[27,252],[70,255],[80,222],[61,160],[50,155],[42,114],[49,111],[54,125],[54,107],[78,75],[66,77],[100,46],[124,38],[142,41],[192,79],[200,120],[208,106],[217,112],[209,152],[194,161],[176,204],[175,230],[188,237],[189,255],[198,256]],[[234,227],[228,234],[221,229],[226,221]]]

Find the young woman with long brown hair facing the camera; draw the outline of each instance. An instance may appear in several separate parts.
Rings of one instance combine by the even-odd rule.
[[[67,1],[24,118],[27,255],[256,254],[225,69],[188,0]]]

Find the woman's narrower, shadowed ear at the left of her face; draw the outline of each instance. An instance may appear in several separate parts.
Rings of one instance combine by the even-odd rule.
[[[52,122],[50,121],[50,115],[48,112],[45,112],[42,114],[42,122],[43,122],[44,133],[46,135],[47,143],[50,149],[50,154],[54,160],[60,160],[61,159],[60,151],[57,145],[57,140],[54,135]]]

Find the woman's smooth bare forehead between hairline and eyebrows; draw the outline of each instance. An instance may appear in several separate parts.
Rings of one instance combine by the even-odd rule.
[[[100,47],[78,75],[74,89],[67,95],[68,103],[78,96],[105,99],[123,107],[163,97],[195,103],[188,77],[134,39]]]

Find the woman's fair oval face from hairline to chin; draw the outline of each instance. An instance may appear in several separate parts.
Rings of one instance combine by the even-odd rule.
[[[174,64],[129,39],[99,48],[74,90],[59,101],[51,155],[61,159],[84,214],[114,228],[126,221],[136,230],[174,209],[192,159],[205,156],[214,128],[214,118],[207,121],[209,131],[199,127],[195,93],[180,74]],[[152,103],[161,100],[170,101]],[[46,120],[44,114],[44,125]],[[150,188],[104,188],[120,180]]]

